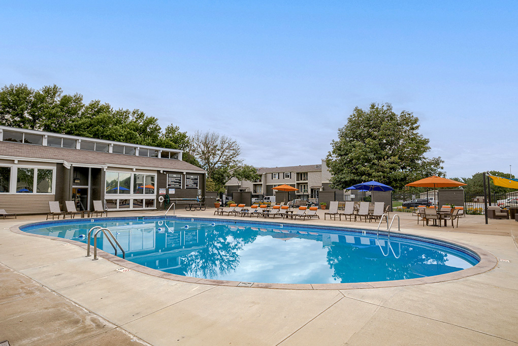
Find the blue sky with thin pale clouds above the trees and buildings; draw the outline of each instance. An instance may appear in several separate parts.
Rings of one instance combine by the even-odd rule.
[[[516,1],[0,2],[0,86],[57,84],[255,166],[318,164],[354,107],[419,117],[448,177],[518,174]]]

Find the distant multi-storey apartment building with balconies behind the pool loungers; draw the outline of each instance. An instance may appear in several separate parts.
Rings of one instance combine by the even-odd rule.
[[[257,168],[260,178],[257,181],[238,181],[232,178],[226,183],[227,195],[233,192],[251,192],[252,197],[275,195],[275,186],[286,184],[298,189],[292,194],[295,198],[318,198],[320,191],[339,191],[329,188],[331,174],[325,160],[316,165],[261,167]]]

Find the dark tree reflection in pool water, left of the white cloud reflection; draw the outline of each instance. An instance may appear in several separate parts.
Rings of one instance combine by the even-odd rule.
[[[205,232],[205,247],[180,258],[180,275],[217,279],[236,270],[238,251],[257,238],[257,231],[250,227],[216,225]]]

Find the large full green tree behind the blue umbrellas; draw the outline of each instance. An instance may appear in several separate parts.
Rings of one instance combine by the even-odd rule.
[[[345,189],[376,180],[402,189],[413,180],[444,176],[444,161],[425,156],[429,140],[418,131],[418,118],[407,111],[396,114],[389,103],[356,107],[327,154],[332,186]]]

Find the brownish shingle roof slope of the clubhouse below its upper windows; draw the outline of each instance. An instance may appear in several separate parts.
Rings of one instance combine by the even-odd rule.
[[[188,170],[205,172],[202,168],[181,160],[159,157],[144,157],[97,151],[34,146],[15,142],[0,141],[0,158],[15,156],[34,158],[37,161],[62,160],[69,164],[117,165],[128,167],[156,168],[164,170]]]

